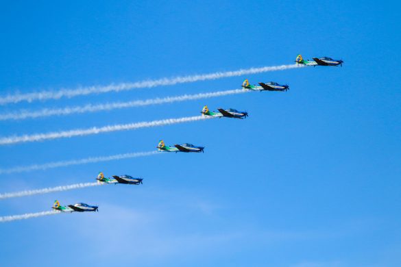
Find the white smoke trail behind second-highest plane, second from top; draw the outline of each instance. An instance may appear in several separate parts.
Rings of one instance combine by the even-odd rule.
[[[20,112],[0,114],[0,120],[23,120],[25,118],[40,118],[47,116],[82,114],[86,112],[99,112],[105,110],[122,109],[127,107],[142,107],[145,105],[158,105],[164,103],[174,103],[174,102],[196,100],[196,99],[207,99],[212,97],[223,97],[230,94],[242,94],[244,92],[250,92],[250,91],[236,89],[236,90],[226,90],[219,92],[204,92],[200,94],[184,94],[177,97],[164,97],[156,99],[135,100],[128,102],[105,103],[97,105],[88,104],[83,106],[63,107],[56,109],[46,108],[38,111],[21,110]]]

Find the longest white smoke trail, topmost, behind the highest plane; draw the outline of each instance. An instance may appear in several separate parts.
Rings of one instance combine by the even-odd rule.
[[[26,94],[9,94],[0,97],[0,105],[8,103],[19,103],[21,101],[38,101],[47,99],[61,99],[62,97],[77,97],[80,95],[99,94],[105,92],[120,92],[124,90],[132,90],[134,88],[152,88],[156,86],[171,86],[175,84],[191,83],[195,81],[205,81],[210,79],[221,79],[225,77],[234,77],[241,75],[249,75],[255,73],[265,73],[267,71],[284,71],[290,68],[302,68],[304,65],[291,64],[281,66],[265,66],[261,68],[246,68],[239,71],[226,71],[217,73],[208,73],[202,75],[188,75],[174,78],[162,78],[147,81],[136,81],[134,83],[110,84],[109,86],[88,86],[76,89],[61,89],[58,91],[42,91],[30,92]]]

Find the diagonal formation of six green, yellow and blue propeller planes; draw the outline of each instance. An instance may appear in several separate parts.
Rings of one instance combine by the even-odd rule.
[[[321,58],[313,58],[313,60],[304,60],[302,55],[297,55],[295,59],[296,64],[305,65],[305,66],[343,66],[343,60],[333,60],[329,57],[321,57]],[[258,82],[259,86],[252,85],[245,79],[242,84],[243,90],[250,91],[273,91],[273,92],[287,92],[289,90],[289,85],[287,84],[278,84],[275,81],[269,82]],[[239,118],[244,119],[247,118],[248,112],[243,112],[239,110],[235,110],[233,108],[223,109],[218,108],[218,112],[210,111],[208,106],[205,105],[201,111],[202,116],[210,116],[215,118]],[[173,144],[171,146],[166,145],[163,140],[160,140],[156,149],[160,152],[175,152],[175,153],[204,153],[205,147],[195,146],[193,144],[184,143],[184,144]],[[132,177],[130,175],[113,175],[112,177],[104,177],[103,173],[99,173],[96,178],[98,183],[107,183],[107,184],[130,184],[130,185],[140,185],[142,184],[143,178]],[[55,201],[52,207],[57,212],[98,212],[99,206],[97,205],[88,205],[86,203],[76,203],[74,205],[60,205],[59,201]]]

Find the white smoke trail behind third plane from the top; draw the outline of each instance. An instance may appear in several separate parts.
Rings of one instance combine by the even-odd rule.
[[[42,140],[51,140],[58,138],[71,138],[74,136],[88,136],[91,134],[106,133],[110,131],[125,131],[125,130],[147,128],[147,127],[173,125],[177,123],[189,123],[191,121],[206,120],[208,118],[213,118],[213,117],[192,116],[184,118],[167,118],[165,120],[144,121],[141,123],[127,123],[120,125],[108,125],[104,127],[92,127],[88,129],[75,129],[69,131],[54,131],[51,133],[36,133],[32,135],[10,136],[5,138],[0,138],[0,145],[17,144],[21,142],[37,142]]]

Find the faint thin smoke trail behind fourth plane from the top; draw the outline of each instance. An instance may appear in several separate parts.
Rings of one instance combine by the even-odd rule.
[[[96,163],[96,162],[108,162],[110,160],[124,160],[133,157],[145,157],[149,155],[161,155],[162,153],[158,151],[149,152],[136,152],[136,153],[125,153],[117,155],[109,155],[104,157],[87,157],[86,159],[80,160],[64,160],[61,162],[49,162],[45,164],[33,164],[28,166],[16,166],[13,168],[3,168],[0,169],[0,174],[10,174],[10,173],[25,173],[32,170],[47,170],[49,168],[59,168],[72,165]]]

